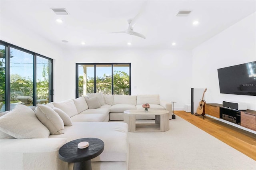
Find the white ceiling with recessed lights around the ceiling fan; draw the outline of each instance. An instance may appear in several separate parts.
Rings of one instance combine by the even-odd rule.
[[[50,8],[66,8],[69,15],[56,15]],[[1,18],[15,21],[20,27],[59,46],[193,49],[255,12],[256,1],[0,0],[0,10]],[[177,17],[178,10],[192,12],[188,17]],[[146,39],[123,33],[102,34],[126,30],[127,20],[140,11],[134,31],[144,34]],[[57,18],[62,19],[63,23],[56,23]],[[192,24],[194,20],[199,21],[197,26]],[[4,26],[4,23],[1,24]],[[82,41],[86,44],[82,45]],[[128,46],[127,42],[132,45]],[[172,42],[176,42],[176,45],[172,46]]]

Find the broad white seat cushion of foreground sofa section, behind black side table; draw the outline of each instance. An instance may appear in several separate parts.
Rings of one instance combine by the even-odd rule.
[[[93,130],[90,130],[93,129]],[[49,138],[67,138],[68,142],[78,138],[99,138],[104,142],[103,152],[94,161],[126,161],[128,159],[128,125],[122,122],[73,122],[65,127],[64,134]]]

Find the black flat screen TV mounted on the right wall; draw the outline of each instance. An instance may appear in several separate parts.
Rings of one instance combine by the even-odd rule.
[[[218,69],[220,93],[256,96],[256,61]]]

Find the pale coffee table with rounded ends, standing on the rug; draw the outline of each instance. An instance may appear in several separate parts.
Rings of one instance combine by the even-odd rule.
[[[164,132],[169,130],[169,111],[159,109],[132,109],[124,111],[124,122],[129,132]],[[136,115],[155,115],[155,123],[136,123]]]

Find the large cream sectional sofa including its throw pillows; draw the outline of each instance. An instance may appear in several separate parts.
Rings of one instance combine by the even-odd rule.
[[[102,154],[92,159],[94,170],[127,170],[129,158],[128,125],[123,120],[127,109],[167,109],[170,103],[159,95],[102,95],[52,102],[37,107],[18,105],[0,113],[0,169],[71,170],[73,163],[58,158],[59,148],[74,139],[94,137],[103,140]],[[140,117],[138,119],[154,119]]]

